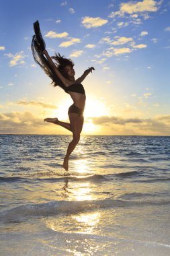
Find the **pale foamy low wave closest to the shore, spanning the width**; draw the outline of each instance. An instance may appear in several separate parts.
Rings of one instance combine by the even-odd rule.
[[[134,207],[143,205],[167,205],[170,201],[128,201],[128,200],[85,200],[85,201],[50,201],[48,203],[20,205],[0,212],[1,222],[22,222],[28,217],[75,214],[88,210],[109,207]]]

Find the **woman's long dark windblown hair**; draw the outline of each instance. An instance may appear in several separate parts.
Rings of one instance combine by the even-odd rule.
[[[71,59],[66,59],[65,56],[61,56],[60,53],[56,53],[55,56],[51,57],[52,59],[54,59],[54,63],[58,69],[58,71],[60,71],[60,73],[67,78],[66,72],[65,72],[65,67],[67,65],[74,67],[75,63],[73,63],[73,61]],[[55,86],[55,84],[54,84]]]

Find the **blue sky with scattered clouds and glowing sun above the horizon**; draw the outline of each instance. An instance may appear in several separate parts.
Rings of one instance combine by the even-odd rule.
[[[38,20],[50,56],[88,67],[83,134],[170,135],[170,1],[1,0],[0,133],[70,134],[69,94],[34,62]]]

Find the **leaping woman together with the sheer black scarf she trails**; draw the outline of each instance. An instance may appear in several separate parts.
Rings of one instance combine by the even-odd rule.
[[[45,49],[45,42],[42,39],[39,23],[34,23],[35,34],[32,40],[32,52],[36,63],[50,76],[54,86],[60,86],[67,92],[73,104],[69,107],[68,115],[70,123],[59,121],[57,118],[46,118],[44,121],[60,125],[73,133],[73,140],[69,143],[67,154],[64,158],[63,167],[69,169],[69,156],[79,143],[80,134],[83,128],[83,111],[85,108],[85,90],[81,82],[85,77],[95,70],[93,67],[85,70],[81,77],[75,79],[74,63],[71,59],[66,59],[59,53],[53,57],[48,55]],[[54,62],[53,62],[54,60]]]

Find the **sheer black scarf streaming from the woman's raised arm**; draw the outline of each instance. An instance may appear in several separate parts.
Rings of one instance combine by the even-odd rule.
[[[46,49],[46,43],[44,42],[44,39],[42,38],[42,34],[40,31],[40,24],[39,22],[34,23],[34,36],[32,38],[32,54],[34,57],[34,60],[42,69],[44,72],[52,79],[52,82],[54,86],[60,86],[65,92],[67,92],[67,87],[65,84],[61,82],[61,80],[57,77],[56,73],[48,63],[46,57],[42,54],[42,51]]]

